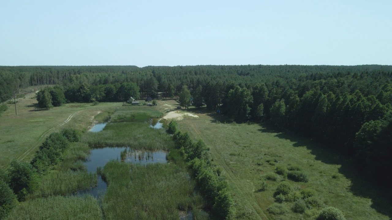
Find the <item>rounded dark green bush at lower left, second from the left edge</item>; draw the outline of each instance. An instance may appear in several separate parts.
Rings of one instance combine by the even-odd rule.
[[[9,185],[18,199],[23,200],[25,195],[33,192],[38,185],[38,175],[33,166],[27,162],[13,160],[8,170]]]

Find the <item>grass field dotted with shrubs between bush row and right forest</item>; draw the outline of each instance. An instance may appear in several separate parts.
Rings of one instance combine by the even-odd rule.
[[[167,111],[167,105],[178,103],[165,101],[158,107]],[[225,118],[216,113],[198,114],[200,110],[192,108],[188,111],[199,117],[185,117],[178,122],[179,128],[195,139],[203,139],[211,148],[212,162],[223,168],[222,175],[229,182],[239,219],[315,219],[324,206],[337,207],[353,220],[392,217],[392,204],[382,191],[357,177],[347,159],[323,150],[318,143],[259,124],[224,123]],[[298,166],[309,182],[294,182],[275,174],[279,165]],[[277,180],[268,180],[269,175]],[[259,191],[263,181],[267,190]],[[302,189],[314,190],[322,207],[298,214],[291,211],[294,202],[285,201],[288,212],[271,215],[267,208],[274,204],[273,194],[281,182],[289,182],[297,194]]]

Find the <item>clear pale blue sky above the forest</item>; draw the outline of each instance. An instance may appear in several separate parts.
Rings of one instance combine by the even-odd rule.
[[[392,65],[390,0],[1,0],[0,8],[0,65]]]

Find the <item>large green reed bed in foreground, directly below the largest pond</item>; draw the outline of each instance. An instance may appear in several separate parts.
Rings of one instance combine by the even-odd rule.
[[[102,175],[108,183],[102,200],[106,219],[179,219],[180,211],[191,209],[202,216],[203,199],[193,193],[186,170],[175,164],[140,166],[112,160]]]

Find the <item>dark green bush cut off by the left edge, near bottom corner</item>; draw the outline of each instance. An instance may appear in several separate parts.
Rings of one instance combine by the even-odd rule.
[[[18,200],[8,184],[0,179],[0,219],[3,219],[16,206]]]

